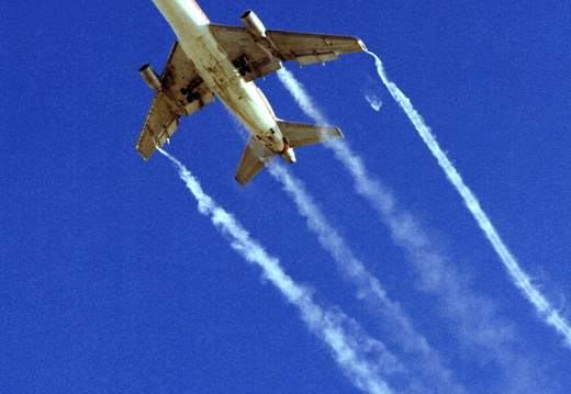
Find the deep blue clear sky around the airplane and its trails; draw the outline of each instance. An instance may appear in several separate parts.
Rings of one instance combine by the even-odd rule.
[[[199,4],[214,23],[253,9],[268,29],[361,38],[569,320],[569,2]],[[137,68],[160,70],[176,40],[153,2],[0,11],[0,391],[362,392],[299,305],[197,210],[172,162],[134,149],[153,98]],[[234,181],[243,131],[220,101],[183,119],[166,150],[310,289],[391,392],[570,392],[566,338],[514,285],[374,59],[284,66],[381,184],[363,198],[323,146],[278,167],[326,221],[321,240],[279,177]],[[313,123],[277,75],[257,85],[279,117]],[[366,274],[351,275],[355,261]]]

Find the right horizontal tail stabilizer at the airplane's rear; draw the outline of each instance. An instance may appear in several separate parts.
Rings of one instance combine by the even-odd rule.
[[[278,121],[278,127],[292,148],[343,138],[337,127]]]

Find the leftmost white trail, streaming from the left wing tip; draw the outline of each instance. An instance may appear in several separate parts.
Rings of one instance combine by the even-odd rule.
[[[325,341],[352,384],[367,393],[393,393],[381,373],[403,373],[403,367],[384,345],[366,335],[354,319],[338,308],[324,309],[315,304],[311,290],[295,283],[283,271],[277,258],[269,256],[233,215],[204,193],[199,181],[180,161],[163,149],[158,150],[176,165],[180,178],[197,199],[200,213],[209,216],[214,226],[228,238],[232,248],[247,261],[258,264],[264,275],[300,309],[309,329]]]

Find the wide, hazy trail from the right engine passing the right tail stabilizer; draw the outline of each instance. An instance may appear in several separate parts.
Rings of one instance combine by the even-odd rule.
[[[316,123],[328,124],[293,75],[284,68],[278,77],[303,112]],[[470,291],[470,284],[455,266],[447,263],[429,240],[423,228],[408,212],[398,209],[392,192],[372,177],[361,157],[345,140],[324,144],[350,173],[355,190],[379,213],[390,228],[394,243],[402,247],[415,264],[421,279],[421,290],[438,296],[444,315],[455,323],[462,347],[480,359],[492,357],[505,374],[508,387],[502,392],[518,393],[518,387],[538,387],[542,376],[533,362],[522,358],[514,347],[513,324],[497,316],[493,302]]]

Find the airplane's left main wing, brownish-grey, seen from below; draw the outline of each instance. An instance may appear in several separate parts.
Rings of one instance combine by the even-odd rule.
[[[161,87],[148,110],[135,148],[145,160],[178,128],[182,114],[190,115],[214,100],[212,91],[176,42],[160,76]]]

